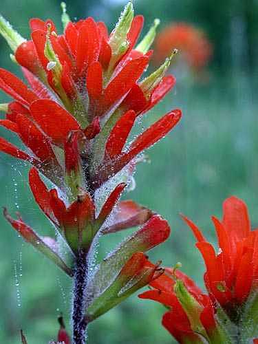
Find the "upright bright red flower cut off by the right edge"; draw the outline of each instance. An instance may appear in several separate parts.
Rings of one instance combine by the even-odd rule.
[[[206,288],[213,301],[234,321],[252,288],[256,288],[258,278],[258,230],[251,231],[246,204],[230,197],[223,204],[222,222],[212,217],[219,246],[217,254],[197,226],[183,218],[193,230],[206,264]]]

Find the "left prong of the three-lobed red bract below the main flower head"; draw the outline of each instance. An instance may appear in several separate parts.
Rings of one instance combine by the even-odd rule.
[[[56,222],[52,207],[50,206],[50,193],[39,177],[39,172],[33,167],[29,173],[30,189],[39,207],[53,222]]]

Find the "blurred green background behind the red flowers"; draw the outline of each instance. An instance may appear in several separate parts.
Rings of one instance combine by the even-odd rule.
[[[222,201],[229,195],[242,197],[249,206],[253,226],[258,224],[257,67],[258,3],[255,0],[136,0],[136,12],[146,17],[144,32],[153,19],[193,23],[206,32],[214,47],[213,61],[205,81],[189,73],[181,76],[171,67],[178,83],[173,92],[142,124],[149,125],[171,108],[182,109],[184,118],[169,136],[148,152],[150,163],[136,173],[136,189],[126,195],[168,219],[171,237],[153,250],[153,261],[166,266],[182,262],[183,270],[203,287],[204,266],[194,239],[182,223],[182,212],[203,228],[215,242],[211,215],[221,216]],[[72,19],[89,15],[116,23],[125,1],[69,0]],[[56,0],[2,0],[1,12],[27,37],[28,19],[52,18],[60,25]],[[161,28],[162,28],[161,25]],[[0,39],[0,65],[19,74],[8,57],[10,50]],[[0,101],[8,98],[1,93]],[[1,129],[1,136],[15,142]],[[0,204],[23,218],[39,233],[52,234],[28,188],[28,166],[0,156]],[[114,248],[125,233],[100,242],[100,257]],[[1,217],[0,241],[0,342],[19,342],[19,329],[28,344],[45,344],[58,330],[56,317],[63,312],[69,327],[71,283],[62,272],[21,238]],[[174,343],[160,323],[164,308],[133,295],[89,327],[89,344]]]

